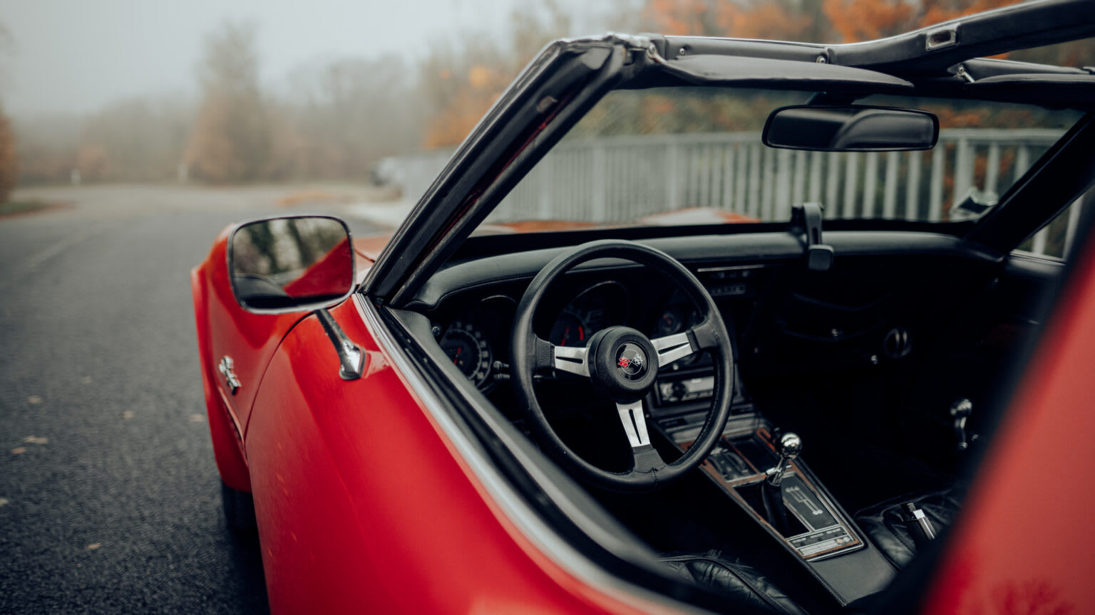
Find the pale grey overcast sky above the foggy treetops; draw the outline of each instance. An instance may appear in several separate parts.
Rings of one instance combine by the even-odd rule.
[[[196,90],[201,38],[226,20],[258,25],[263,80],[339,56],[416,57],[452,31],[502,32],[521,0],[0,0],[12,44],[0,59],[9,113],[95,111],[130,95]],[[575,28],[603,30],[591,4]]]

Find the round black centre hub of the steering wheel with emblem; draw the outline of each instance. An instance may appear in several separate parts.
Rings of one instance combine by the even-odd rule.
[[[642,399],[658,375],[658,353],[650,340],[631,327],[609,327],[589,340],[593,382],[616,402]]]

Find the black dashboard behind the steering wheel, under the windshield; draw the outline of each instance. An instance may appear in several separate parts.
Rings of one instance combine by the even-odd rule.
[[[679,258],[715,300],[734,337],[735,404],[749,402],[745,388],[753,397],[782,394],[789,382],[876,372],[918,356],[927,347],[927,332],[971,291],[970,281],[991,279],[998,266],[940,235],[832,232],[827,240],[840,258],[826,272],[808,270],[800,244],[785,234],[648,242]],[[514,416],[519,415],[508,384],[514,315],[529,281],[557,253],[454,260],[412,304],[429,318],[448,360]],[[695,306],[670,280],[633,263],[603,259],[576,267],[548,289],[533,330],[553,345],[576,346],[612,325],[656,338],[698,320]],[[661,365],[652,415],[702,410],[716,386],[712,376],[704,353]]]

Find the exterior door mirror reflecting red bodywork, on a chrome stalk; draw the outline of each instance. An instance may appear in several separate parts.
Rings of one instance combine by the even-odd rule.
[[[349,229],[325,216],[241,224],[228,239],[228,270],[235,301],[249,312],[330,308],[354,288]]]

